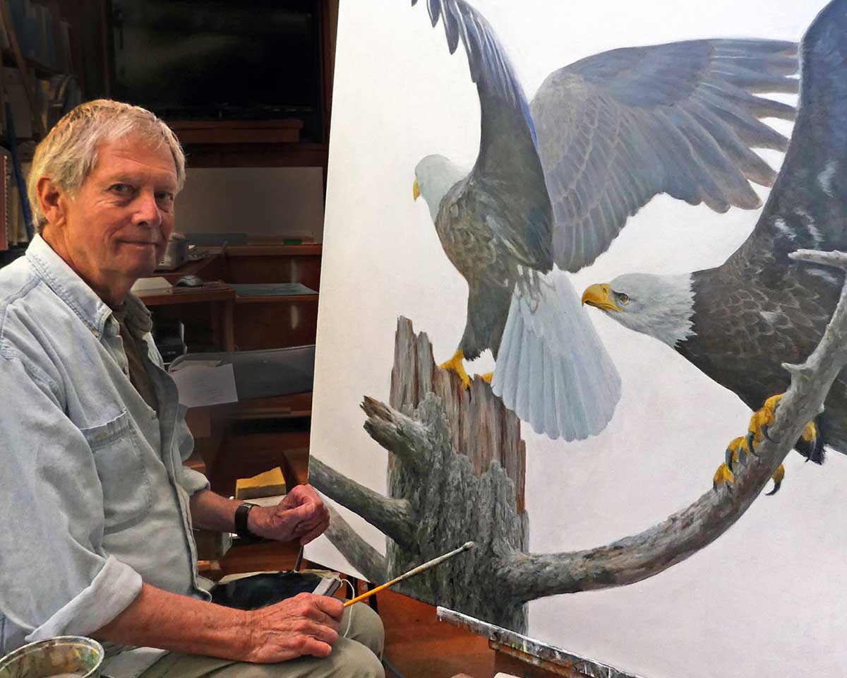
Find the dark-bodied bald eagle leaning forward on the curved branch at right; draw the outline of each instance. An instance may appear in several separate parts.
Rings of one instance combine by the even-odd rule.
[[[722,265],[687,275],[618,275],[584,303],[666,343],[750,408],[789,386],[781,365],[817,347],[844,273],[789,258],[800,248],[847,250],[847,0],[824,8],[801,47],[800,110],[783,168],[750,237]],[[814,445],[847,453],[847,372],[816,420]]]

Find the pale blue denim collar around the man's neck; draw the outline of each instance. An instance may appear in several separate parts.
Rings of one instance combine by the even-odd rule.
[[[112,309],[97,296],[86,281],[64,261],[41,235],[36,234],[26,248],[26,258],[41,275],[47,286],[68,304],[95,336],[102,336]],[[139,336],[152,328],[150,311],[132,292],[127,293],[126,324]]]

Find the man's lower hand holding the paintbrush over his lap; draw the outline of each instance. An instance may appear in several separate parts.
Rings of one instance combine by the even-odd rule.
[[[343,613],[344,603],[338,598],[311,593],[253,610],[247,617],[250,650],[246,661],[273,664],[307,654],[326,657],[338,640]]]

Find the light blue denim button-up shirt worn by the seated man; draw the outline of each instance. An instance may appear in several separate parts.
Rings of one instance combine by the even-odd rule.
[[[47,242],[0,270],[0,655],[96,631],[142,581],[207,597],[189,497],[208,481],[182,465],[193,441],[149,312],[126,303],[158,415],[111,308]]]

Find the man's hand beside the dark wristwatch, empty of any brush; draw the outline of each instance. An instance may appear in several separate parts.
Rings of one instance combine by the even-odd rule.
[[[250,531],[265,539],[307,544],[329,525],[329,511],[311,485],[296,485],[276,506],[252,508]]]

